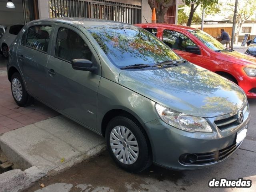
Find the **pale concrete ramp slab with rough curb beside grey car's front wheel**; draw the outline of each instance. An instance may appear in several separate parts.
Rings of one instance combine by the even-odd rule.
[[[0,135],[0,148],[14,163],[14,170],[0,174],[0,192],[21,192],[100,154],[106,145],[92,131],[57,116]]]

